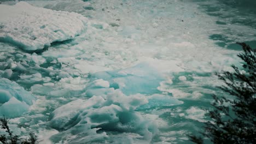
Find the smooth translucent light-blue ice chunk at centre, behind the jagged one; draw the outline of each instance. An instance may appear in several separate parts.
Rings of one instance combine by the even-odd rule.
[[[98,72],[92,74],[92,77],[108,81],[110,87],[121,89],[126,95],[157,93],[159,91],[156,88],[164,80],[158,70],[148,63],[140,63],[123,70]]]

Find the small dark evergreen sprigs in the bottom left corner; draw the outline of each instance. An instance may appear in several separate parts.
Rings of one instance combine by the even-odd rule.
[[[20,139],[18,135],[13,135],[13,131],[10,130],[8,125],[9,120],[5,117],[0,118],[0,126],[2,129],[5,129],[7,135],[0,135],[0,143],[3,144],[36,144],[37,135],[32,131],[29,133],[28,139]]]

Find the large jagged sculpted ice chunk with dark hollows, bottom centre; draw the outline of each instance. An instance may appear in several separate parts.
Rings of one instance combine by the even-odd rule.
[[[95,136],[98,140],[106,137],[107,131],[119,131],[136,133],[150,141],[157,131],[157,125],[152,116],[141,115],[135,111],[139,106],[148,103],[146,96],[126,96],[119,90],[108,89],[110,90],[106,98],[93,96],[86,100],[78,99],[56,109],[49,124],[55,129],[65,131],[55,135],[54,140],[57,142],[69,139],[69,142],[74,142],[79,140],[78,137],[90,137],[94,141]],[[105,132],[96,133],[98,130]],[[71,131],[76,135],[75,139],[64,136]]]

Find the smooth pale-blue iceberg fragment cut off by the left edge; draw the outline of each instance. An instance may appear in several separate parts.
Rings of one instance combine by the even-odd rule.
[[[8,79],[0,79],[0,115],[18,117],[28,111],[35,97]]]

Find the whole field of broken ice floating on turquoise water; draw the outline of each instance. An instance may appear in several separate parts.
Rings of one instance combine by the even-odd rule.
[[[39,143],[190,143],[214,72],[256,46],[254,7],[234,4],[3,1],[0,115]]]

